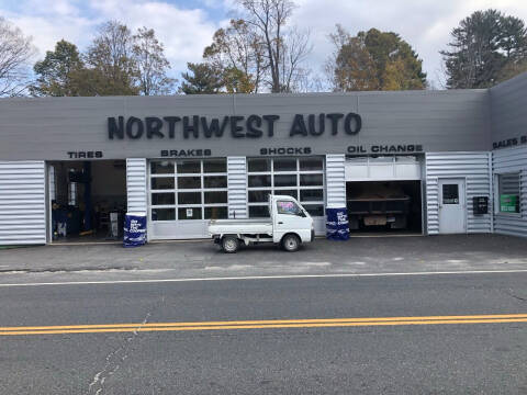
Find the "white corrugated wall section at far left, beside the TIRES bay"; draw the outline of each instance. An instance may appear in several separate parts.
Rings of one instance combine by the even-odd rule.
[[[44,161],[0,161],[0,246],[46,244]]]

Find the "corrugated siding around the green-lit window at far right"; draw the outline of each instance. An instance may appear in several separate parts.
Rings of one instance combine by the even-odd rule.
[[[520,214],[494,214],[494,232],[527,237],[527,147],[495,150],[492,153],[494,177],[500,173],[519,172]],[[494,193],[498,196],[497,183]],[[496,198],[498,199],[498,198]]]

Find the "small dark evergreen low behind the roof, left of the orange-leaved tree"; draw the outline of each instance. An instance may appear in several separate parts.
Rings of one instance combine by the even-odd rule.
[[[222,70],[206,63],[188,63],[187,67],[190,72],[181,74],[184,81],[181,83],[180,92],[184,94],[220,93],[224,86]]]

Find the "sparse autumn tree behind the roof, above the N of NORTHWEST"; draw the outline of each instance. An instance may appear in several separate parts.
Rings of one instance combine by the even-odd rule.
[[[86,64],[91,69],[98,95],[138,94],[138,69],[130,29],[117,21],[104,23],[88,48]]]

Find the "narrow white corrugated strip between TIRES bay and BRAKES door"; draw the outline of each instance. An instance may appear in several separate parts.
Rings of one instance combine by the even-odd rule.
[[[145,158],[126,159],[126,196],[128,213],[147,212],[147,170]]]

